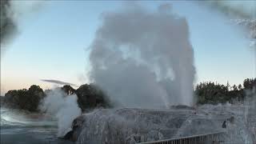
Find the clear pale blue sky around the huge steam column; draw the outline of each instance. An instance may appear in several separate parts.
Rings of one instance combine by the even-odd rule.
[[[154,10],[162,2],[141,2]],[[174,13],[185,17],[194,48],[197,79],[226,84],[255,77],[254,50],[246,34],[225,15],[195,2],[170,1]],[[88,47],[101,24],[101,14],[118,10],[120,1],[50,1],[18,19],[19,33],[1,58],[1,94],[7,90],[43,89],[57,79],[77,85],[88,82]]]

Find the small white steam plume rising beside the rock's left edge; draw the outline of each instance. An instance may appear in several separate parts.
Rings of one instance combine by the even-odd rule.
[[[72,130],[72,122],[82,114],[77,95],[66,95],[60,89],[50,91],[43,99],[40,109],[58,119],[58,137]]]

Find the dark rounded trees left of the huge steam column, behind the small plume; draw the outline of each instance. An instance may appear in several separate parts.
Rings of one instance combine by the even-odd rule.
[[[62,90],[63,96],[74,96],[76,94],[78,97],[78,106],[82,111],[94,109],[96,107],[110,107],[110,101],[106,97],[106,94],[95,86],[94,84],[84,84],[79,86],[75,90],[71,86],[62,86],[58,88]],[[42,99],[50,94],[52,90],[42,90],[40,86],[30,86],[28,90],[9,90],[4,97],[1,97],[1,105],[8,106],[14,109],[22,109],[29,111],[39,111],[39,105]]]

